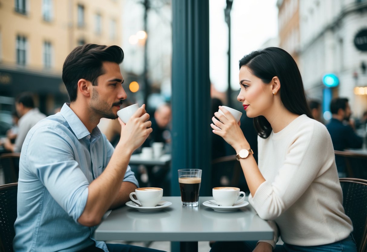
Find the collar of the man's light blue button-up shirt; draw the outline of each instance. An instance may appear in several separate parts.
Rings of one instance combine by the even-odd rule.
[[[95,127],[92,130],[92,134],[89,133],[87,127],[83,122],[79,119],[79,117],[74,113],[74,111],[70,108],[70,103],[65,103],[60,111],[61,115],[65,118],[66,122],[68,122],[70,128],[74,132],[75,136],[78,139],[91,135],[91,137],[98,139],[101,137],[101,131],[98,127]]]

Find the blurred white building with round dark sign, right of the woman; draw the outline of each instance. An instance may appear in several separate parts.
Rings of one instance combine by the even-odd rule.
[[[367,110],[367,92],[355,94],[355,87],[367,87],[362,66],[367,65],[367,51],[357,49],[354,41],[367,29],[367,0],[300,0],[299,12],[301,73],[308,97],[322,100],[323,75],[334,73],[340,84],[333,97],[349,98],[354,115],[360,116]]]

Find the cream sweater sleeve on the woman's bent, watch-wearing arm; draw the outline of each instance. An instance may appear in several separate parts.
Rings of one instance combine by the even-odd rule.
[[[274,220],[294,204],[324,166],[333,162],[333,148],[326,127],[315,123],[302,125],[290,139],[283,165],[273,182],[265,181],[253,195],[251,204],[265,220]],[[269,154],[268,158],[272,157]]]

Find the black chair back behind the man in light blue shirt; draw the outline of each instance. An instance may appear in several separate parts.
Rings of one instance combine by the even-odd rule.
[[[13,251],[18,183],[0,186],[0,251]]]

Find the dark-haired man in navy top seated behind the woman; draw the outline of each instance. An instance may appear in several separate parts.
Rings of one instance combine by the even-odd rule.
[[[347,98],[334,98],[330,103],[332,118],[326,125],[333,141],[334,150],[342,151],[345,148],[361,148],[363,139],[356,135],[349,124],[350,111]],[[345,177],[345,161],[341,156],[335,156],[339,177]]]

